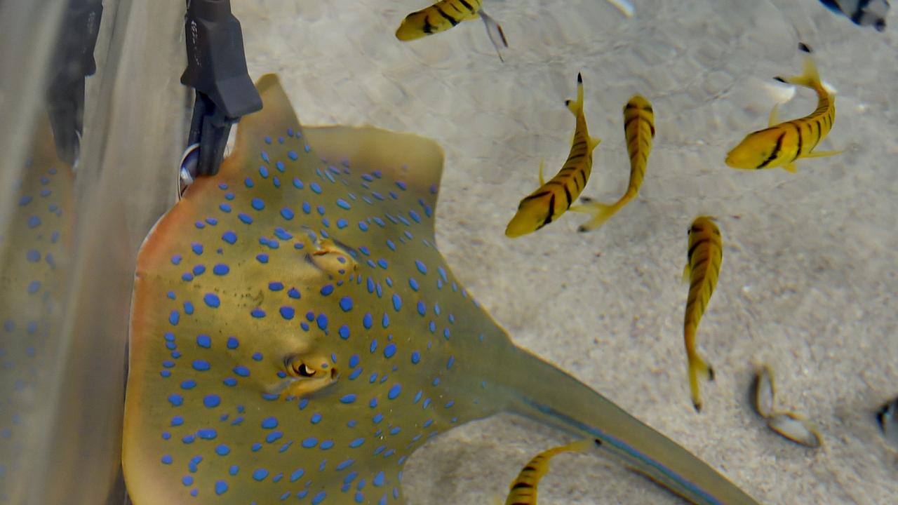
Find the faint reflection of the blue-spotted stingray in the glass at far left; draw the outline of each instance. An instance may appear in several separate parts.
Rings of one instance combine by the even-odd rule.
[[[73,249],[75,174],[39,123],[12,212],[0,215],[0,504],[33,492],[25,475],[46,437]]]

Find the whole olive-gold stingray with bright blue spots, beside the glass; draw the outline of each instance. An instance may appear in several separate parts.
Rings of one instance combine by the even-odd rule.
[[[434,238],[439,146],[301,128],[275,75],[257,85],[263,109],[233,154],[138,256],[123,447],[136,505],[403,503],[416,448],[497,412],[596,439],[695,503],[757,503],[515,347],[462,288]]]

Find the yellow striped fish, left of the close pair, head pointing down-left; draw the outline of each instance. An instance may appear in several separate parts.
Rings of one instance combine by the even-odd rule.
[[[573,203],[593,172],[593,149],[602,140],[589,137],[586,117],[583,113],[583,76],[577,74],[577,102],[565,102],[577,117],[574,139],[570,146],[568,161],[549,182],[542,178],[540,163],[540,187],[530,193],[517,207],[515,217],[506,227],[506,236],[527,235],[557,220]]]

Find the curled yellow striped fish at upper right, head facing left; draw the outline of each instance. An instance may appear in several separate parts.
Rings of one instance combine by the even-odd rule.
[[[748,134],[726,155],[726,164],[733,168],[760,169],[781,166],[796,172],[798,158],[817,158],[838,155],[841,151],[816,151],[814,147],[826,137],[836,119],[836,97],[820,81],[811,49],[799,44],[804,51],[805,70],[802,75],[775,77],[781,83],[805,86],[817,92],[817,108],[810,115],[777,124],[777,106],[770,111],[769,128]]]

